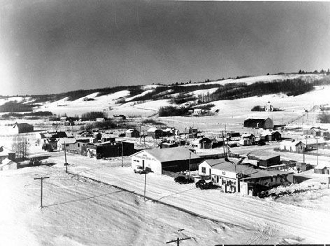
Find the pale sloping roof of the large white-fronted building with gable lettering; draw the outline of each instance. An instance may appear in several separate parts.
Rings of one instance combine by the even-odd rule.
[[[145,151],[150,155],[152,155],[157,160],[159,160],[160,162],[189,159],[189,154],[191,155],[191,159],[200,158],[200,156],[192,153],[189,149],[185,147],[151,149]]]

